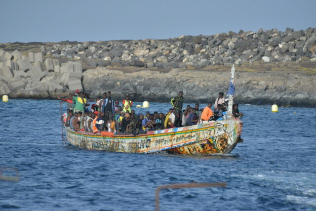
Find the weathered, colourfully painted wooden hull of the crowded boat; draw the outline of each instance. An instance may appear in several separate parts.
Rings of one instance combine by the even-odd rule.
[[[71,145],[86,149],[124,153],[227,154],[237,144],[241,134],[240,120],[204,122],[189,127],[149,131],[146,134],[118,134],[113,137],[100,133],[77,132],[66,128]]]

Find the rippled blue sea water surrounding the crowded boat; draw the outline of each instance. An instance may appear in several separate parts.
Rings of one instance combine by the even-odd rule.
[[[227,188],[162,190],[160,210],[316,210],[316,109],[239,109],[244,143],[230,155],[172,156],[63,145],[59,101],[0,102],[0,168],[20,172],[0,181],[0,210],[153,211],[158,186],[190,182]]]

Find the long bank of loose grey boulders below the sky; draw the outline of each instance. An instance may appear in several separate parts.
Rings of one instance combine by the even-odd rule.
[[[316,29],[240,30],[167,40],[71,42],[41,46],[43,55],[80,59],[89,66],[202,69],[244,62],[316,62]]]

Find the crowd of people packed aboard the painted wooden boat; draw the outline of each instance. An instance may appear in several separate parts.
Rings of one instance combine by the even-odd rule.
[[[108,131],[114,134],[142,134],[151,130],[159,130],[173,127],[192,126],[201,121],[223,120],[227,112],[228,100],[224,93],[220,92],[215,100],[214,111],[212,103],[209,102],[205,108],[200,108],[196,103],[195,107],[187,105],[183,109],[183,92],[171,99],[172,108],[164,113],[146,112],[136,114],[132,109],[133,101],[130,94],[126,94],[121,105],[111,97],[111,91],[104,92],[102,97],[96,100],[90,99],[89,93],[69,93],[69,96],[58,99],[67,102],[67,113],[62,117],[66,127],[79,131],[101,132]],[[89,102],[95,102],[89,104]],[[238,104],[233,105],[233,116],[240,119],[243,114],[238,110]]]

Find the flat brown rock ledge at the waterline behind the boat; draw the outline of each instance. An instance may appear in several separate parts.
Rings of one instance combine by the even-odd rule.
[[[229,70],[229,69],[228,69]],[[183,90],[187,102],[215,101],[218,92],[227,92],[230,71],[190,71],[173,69],[169,72],[152,70],[125,73],[107,68],[83,73],[84,89],[92,97],[111,90],[116,100],[131,93],[133,100],[168,102]],[[315,106],[316,75],[304,72],[240,72],[236,73],[238,103],[283,106]]]

